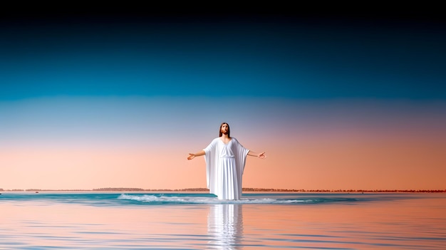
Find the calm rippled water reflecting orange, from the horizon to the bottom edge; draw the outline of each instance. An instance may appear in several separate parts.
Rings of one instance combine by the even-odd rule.
[[[0,249],[446,249],[446,194],[4,193]]]

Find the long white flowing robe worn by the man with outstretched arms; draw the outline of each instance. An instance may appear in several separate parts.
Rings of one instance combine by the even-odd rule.
[[[227,144],[217,137],[204,148],[204,152],[209,193],[217,195],[218,199],[240,199],[249,150],[234,137]]]

